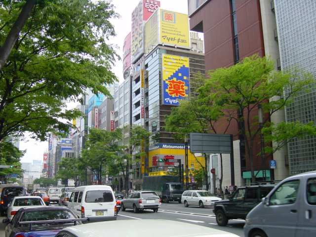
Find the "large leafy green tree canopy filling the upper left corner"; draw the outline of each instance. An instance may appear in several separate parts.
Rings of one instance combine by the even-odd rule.
[[[3,45],[27,1],[0,2]],[[107,43],[118,17],[107,1],[46,0],[35,4],[0,71],[0,146],[29,131],[44,141],[51,131],[67,131],[81,113],[66,109],[86,88],[111,96],[104,86],[118,57]]]

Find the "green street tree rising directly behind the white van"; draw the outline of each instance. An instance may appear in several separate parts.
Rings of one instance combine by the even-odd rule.
[[[102,176],[108,174],[110,164],[118,159],[122,151],[118,145],[123,135],[121,129],[106,131],[98,128],[89,129],[85,148],[82,149],[82,162],[97,177],[98,184]]]

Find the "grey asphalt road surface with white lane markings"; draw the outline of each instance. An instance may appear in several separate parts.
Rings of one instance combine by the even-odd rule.
[[[52,204],[57,205],[57,204]],[[244,225],[243,220],[229,220],[226,227],[220,227],[216,224],[215,215],[213,213],[212,207],[184,207],[183,204],[177,202],[170,202],[168,204],[162,203],[158,212],[155,213],[152,210],[144,210],[140,213],[134,213],[132,209],[127,209],[126,211],[120,211],[118,213],[118,220],[124,219],[164,219],[164,220],[175,220],[181,222],[187,222],[191,224],[206,226],[222,231],[227,231],[234,233],[240,237],[243,237],[242,227]],[[4,237],[5,225],[2,224],[2,219],[0,218],[0,237]],[[157,227],[158,231],[159,227]],[[126,235],[128,230],[126,230]]]

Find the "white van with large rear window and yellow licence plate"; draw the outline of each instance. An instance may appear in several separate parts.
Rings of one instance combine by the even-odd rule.
[[[117,219],[116,199],[108,185],[88,185],[73,190],[68,208],[79,217],[89,217],[90,222]]]

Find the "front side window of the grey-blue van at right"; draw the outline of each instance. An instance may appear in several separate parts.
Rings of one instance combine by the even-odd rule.
[[[299,184],[299,180],[283,183],[270,197],[270,205],[284,205],[294,203],[297,198]]]

